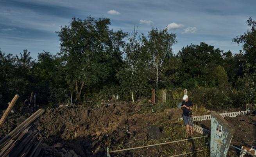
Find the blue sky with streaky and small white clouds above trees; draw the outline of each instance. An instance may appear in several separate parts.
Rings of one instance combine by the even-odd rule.
[[[242,47],[232,39],[256,20],[255,0],[0,0],[0,50],[20,54],[27,49],[36,59],[43,50],[59,52],[56,31],[73,17],[110,18],[110,28],[147,34],[152,27],[176,34],[177,54],[200,42],[233,54]]]

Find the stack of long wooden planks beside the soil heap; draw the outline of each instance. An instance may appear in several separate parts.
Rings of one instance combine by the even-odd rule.
[[[0,157],[38,157],[42,143],[33,122],[45,110],[39,109],[0,140]]]

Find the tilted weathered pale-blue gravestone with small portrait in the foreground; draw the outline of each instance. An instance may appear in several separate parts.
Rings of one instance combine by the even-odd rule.
[[[226,157],[235,128],[217,112],[211,113],[211,157]]]

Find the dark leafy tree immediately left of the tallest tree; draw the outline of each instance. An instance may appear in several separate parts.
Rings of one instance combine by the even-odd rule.
[[[34,79],[37,82],[36,91],[44,99],[41,103],[56,102],[58,93],[66,89],[63,66],[57,55],[43,51],[38,54],[38,61],[33,66]]]

